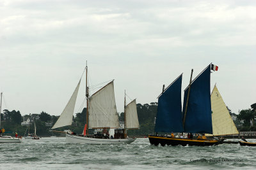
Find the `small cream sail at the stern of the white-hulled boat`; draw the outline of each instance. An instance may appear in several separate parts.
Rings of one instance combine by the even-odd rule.
[[[138,129],[140,127],[136,99],[125,107],[125,129]]]

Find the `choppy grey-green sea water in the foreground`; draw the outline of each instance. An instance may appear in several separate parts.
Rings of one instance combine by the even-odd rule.
[[[256,142],[255,139],[249,141]],[[0,169],[255,169],[256,147],[66,144],[65,138],[2,143]]]

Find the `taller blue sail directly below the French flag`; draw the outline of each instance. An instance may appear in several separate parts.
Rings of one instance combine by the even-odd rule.
[[[210,66],[191,83],[184,132],[212,134]],[[184,92],[183,117],[187,97],[188,88]]]

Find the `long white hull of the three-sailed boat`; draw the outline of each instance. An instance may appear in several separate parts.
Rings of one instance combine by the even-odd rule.
[[[88,138],[83,136],[75,136],[71,134],[66,134],[66,143],[86,143],[86,144],[122,144],[122,143],[132,143],[136,139],[100,139],[100,138]]]

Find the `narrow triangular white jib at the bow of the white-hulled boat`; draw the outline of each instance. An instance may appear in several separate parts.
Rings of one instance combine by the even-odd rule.
[[[76,97],[77,97],[77,93],[79,90],[80,82],[81,82],[81,79],[79,80],[79,83],[78,83],[74,93],[72,94],[71,98],[69,99],[67,106],[62,111],[60,117],[58,118],[57,122],[53,125],[52,129],[56,129],[58,127],[63,127],[63,126],[72,124],[72,118],[73,118],[73,114],[74,114]]]

